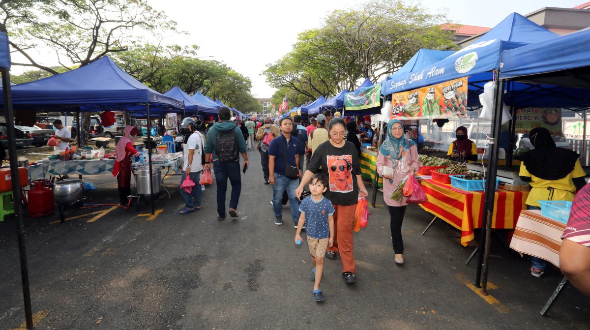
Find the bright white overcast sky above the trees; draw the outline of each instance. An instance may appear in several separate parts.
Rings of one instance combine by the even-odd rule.
[[[260,73],[290,51],[297,34],[318,27],[335,9],[346,9],[362,0],[148,0],[178,22],[179,30],[165,43],[199,45],[199,56],[214,56],[249,77],[255,97],[271,97],[274,89]],[[545,6],[572,8],[584,0],[422,0],[430,12],[444,12],[451,22],[494,27],[511,12],[526,15]],[[416,3],[416,2],[414,2]],[[207,59],[207,58],[204,58]],[[17,69],[18,74],[18,69]]]

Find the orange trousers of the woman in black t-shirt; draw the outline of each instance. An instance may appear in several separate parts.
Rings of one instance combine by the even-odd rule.
[[[342,260],[342,272],[356,273],[355,257],[352,254],[354,237],[352,228],[355,223],[356,205],[334,206],[334,244],[328,251],[339,252]]]

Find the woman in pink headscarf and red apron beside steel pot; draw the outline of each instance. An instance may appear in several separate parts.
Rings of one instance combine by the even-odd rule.
[[[113,177],[117,177],[119,185],[119,201],[121,205],[127,205],[127,196],[131,194],[131,156],[139,156],[141,162],[143,156],[133,148],[133,139],[139,134],[135,126],[125,126],[125,133],[117,143],[116,158],[113,166]]]

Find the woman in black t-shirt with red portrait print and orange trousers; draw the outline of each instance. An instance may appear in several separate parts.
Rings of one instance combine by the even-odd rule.
[[[316,173],[322,172],[329,178],[329,188],[324,196],[332,201],[334,209],[334,245],[326,251],[328,259],[335,259],[340,253],[342,277],[346,284],[356,283],[355,258],[352,254],[352,228],[358,197],[366,197],[367,191],[360,178],[359,153],[356,146],[345,140],[346,123],[340,117],[330,120],[330,140],[320,144],[307,165],[307,171],[295,191],[301,196],[303,187]]]

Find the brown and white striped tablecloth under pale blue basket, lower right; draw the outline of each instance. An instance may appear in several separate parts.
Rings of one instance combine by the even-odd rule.
[[[565,223],[543,217],[541,210],[522,211],[510,247],[559,267],[559,248],[565,226]]]

